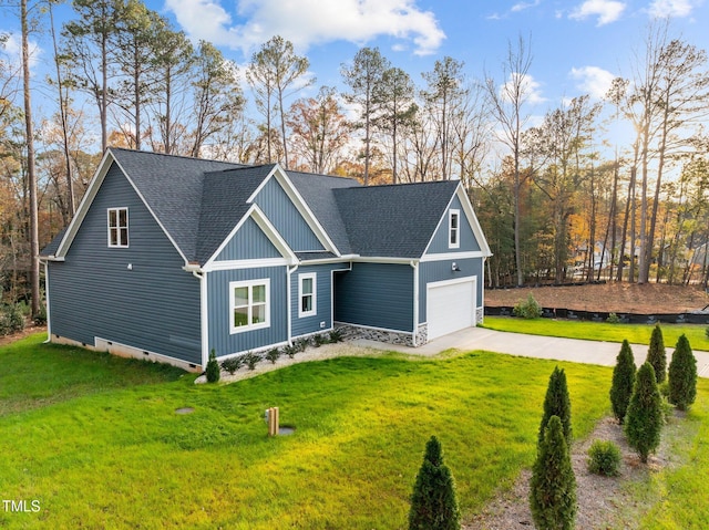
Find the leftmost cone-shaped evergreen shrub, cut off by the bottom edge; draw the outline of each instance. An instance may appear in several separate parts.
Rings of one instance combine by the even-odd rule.
[[[455,481],[443,464],[441,443],[431,436],[411,495],[409,529],[460,530],[460,519]]]

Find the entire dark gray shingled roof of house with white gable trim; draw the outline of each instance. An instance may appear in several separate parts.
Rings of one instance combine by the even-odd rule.
[[[254,202],[269,178],[279,180],[325,243],[326,250],[317,256],[298,253],[300,260],[350,254],[421,258],[451,200],[461,193],[458,180],[364,187],[349,178],[285,172],[278,164],[246,166],[110,148],[65,233],[58,236],[42,256],[63,258],[114,164],[185,264],[207,263],[246,216],[256,216],[280,240]],[[474,212],[471,221],[476,225],[476,236],[483,239],[481,245],[486,246]],[[280,243],[285,245],[282,240]],[[288,254],[296,256],[290,250]]]

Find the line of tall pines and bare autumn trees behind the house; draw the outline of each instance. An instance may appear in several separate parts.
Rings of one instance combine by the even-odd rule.
[[[419,83],[362,48],[341,65],[343,90],[301,96],[317,80],[278,35],[239,67],[140,0],[73,0],[61,27],[52,0],[0,6],[23,50],[20,64],[0,55],[7,299],[41,299],[39,248],[69,224],[109,145],[364,185],[460,178],[494,252],[491,287],[709,280],[707,53],[667,21],[605,98],[580,95],[533,122],[531,38],[511,41],[494,74],[469,77],[444,56]],[[30,73],[32,35],[51,49],[47,79]],[[630,136],[614,139],[623,127]]]

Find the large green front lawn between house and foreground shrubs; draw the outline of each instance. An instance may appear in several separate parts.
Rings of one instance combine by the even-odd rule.
[[[0,417],[0,491],[41,507],[0,510],[0,527],[402,528],[432,434],[471,518],[531,466],[555,365],[486,352],[383,355],[194,385],[193,375],[95,356],[38,339],[0,349],[3,365],[25,365],[16,391],[34,387]],[[558,364],[584,404],[574,432],[587,436],[607,413],[610,370]],[[32,397],[34,374],[50,366],[63,397]],[[184,406],[195,412],[175,414]],[[266,436],[269,406],[292,436]]]

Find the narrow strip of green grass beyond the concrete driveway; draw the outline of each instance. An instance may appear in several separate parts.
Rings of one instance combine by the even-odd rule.
[[[623,342],[627,339],[631,344],[649,344],[651,325],[648,324],[609,324],[607,322],[568,321],[552,319],[513,319],[510,316],[485,316],[483,328],[532,335],[563,336],[567,339],[592,339],[594,341]],[[677,339],[687,335],[693,350],[709,350],[703,324],[660,324],[665,346],[674,347]]]

